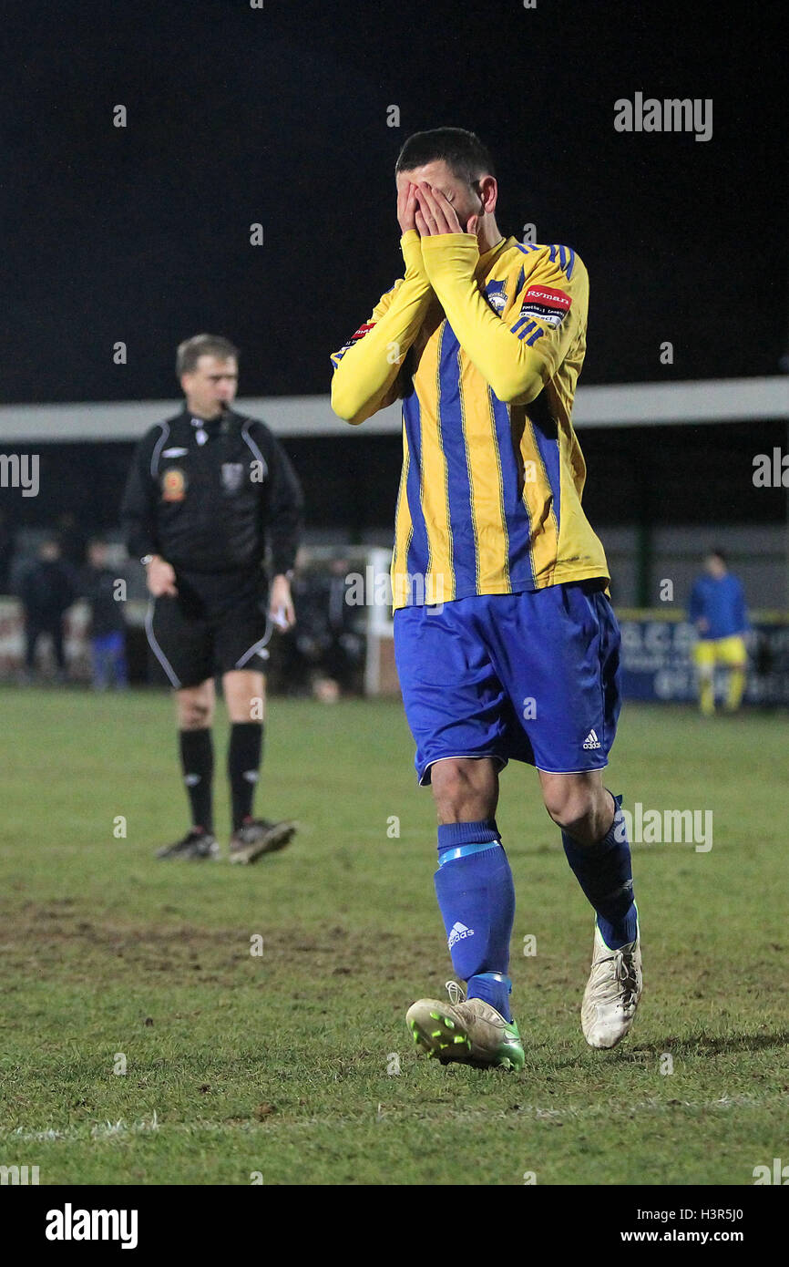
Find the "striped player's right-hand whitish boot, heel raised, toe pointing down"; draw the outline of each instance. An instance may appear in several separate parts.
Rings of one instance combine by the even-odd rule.
[[[589,1047],[615,1047],[636,1017],[643,979],[641,976],[641,941],[628,941],[621,950],[610,950],[594,925],[591,972],[581,1003],[581,1029]]]

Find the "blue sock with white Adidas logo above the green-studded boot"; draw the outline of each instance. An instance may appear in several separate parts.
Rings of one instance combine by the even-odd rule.
[[[512,1020],[507,972],[515,891],[495,821],[441,826],[434,879],[452,967],[467,982],[467,997],[484,998]]]

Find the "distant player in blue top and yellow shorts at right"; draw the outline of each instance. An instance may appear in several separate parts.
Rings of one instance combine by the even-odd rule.
[[[742,584],[728,570],[726,555],[710,550],[704,560],[704,573],[690,593],[688,617],[694,623],[698,641],[693,649],[699,687],[699,707],[705,717],[716,711],[716,665],[728,672],[724,708],[737,712],[745,692],[748,656],[745,634],[748,618]]]

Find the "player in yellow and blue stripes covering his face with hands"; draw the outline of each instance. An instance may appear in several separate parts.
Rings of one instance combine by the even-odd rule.
[[[603,770],[619,713],[619,631],[605,555],[581,509],[571,422],[589,281],[569,246],[495,220],[472,134],[410,137],[396,163],[405,274],[332,357],[351,423],[403,399],[391,580],[395,655],[419,782],[438,811],[436,893],[456,977],[407,1014],[439,1060],[521,1068],[510,1014],[513,879],[499,772],[536,767],[546,810],[595,911],[586,1041],[632,1025],[641,952],[621,797]]]

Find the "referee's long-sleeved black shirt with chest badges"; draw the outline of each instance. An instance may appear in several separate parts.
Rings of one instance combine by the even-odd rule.
[[[186,408],[151,427],[137,451],[122,519],[129,554],[176,569],[256,569],[295,561],[303,495],[285,450],[263,422],[225,409],[205,422]]]

